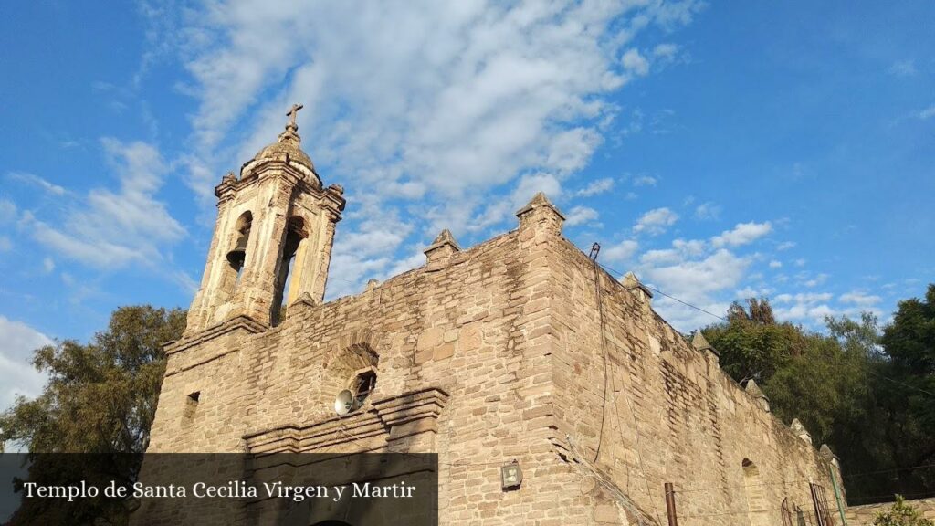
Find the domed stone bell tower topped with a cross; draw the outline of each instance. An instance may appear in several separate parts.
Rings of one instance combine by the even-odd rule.
[[[301,109],[286,113],[285,131],[244,163],[239,177],[228,173],[215,188],[218,219],[186,335],[238,317],[275,326],[299,297],[324,300],[344,190],[324,188],[300,148]]]

